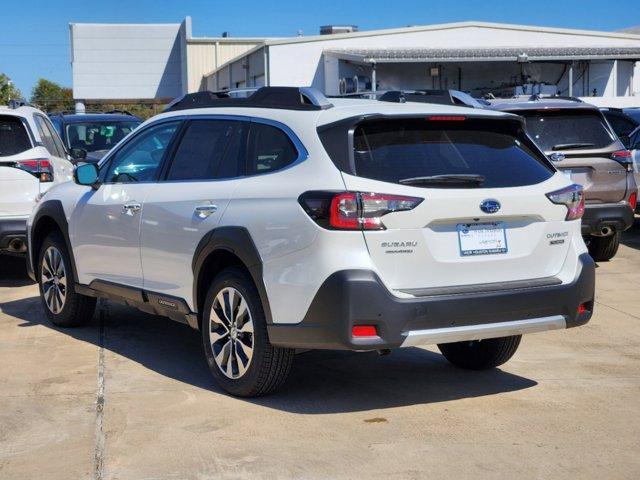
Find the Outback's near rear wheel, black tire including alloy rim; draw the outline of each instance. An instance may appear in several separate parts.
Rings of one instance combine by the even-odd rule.
[[[211,374],[230,394],[266,395],[289,375],[295,351],[269,343],[260,295],[241,268],[225,269],[211,283],[201,330]]]

